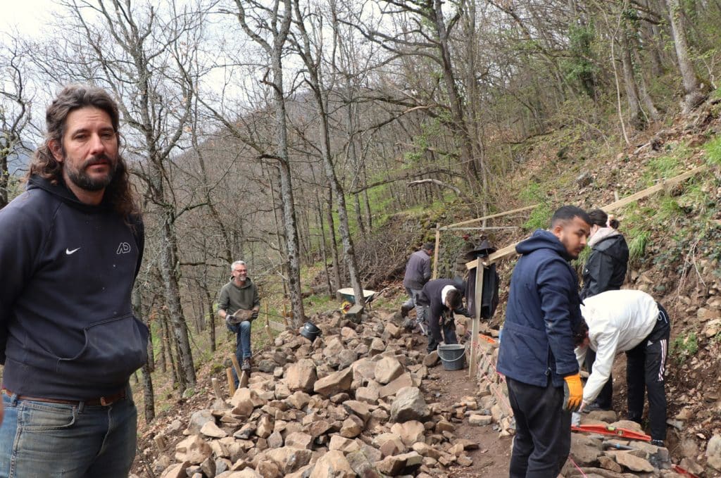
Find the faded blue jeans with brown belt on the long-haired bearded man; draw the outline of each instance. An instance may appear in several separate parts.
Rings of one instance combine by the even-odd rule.
[[[128,391],[130,386],[128,386]],[[107,407],[2,394],[0,478],[126,478],[136,454],[132,396]]]

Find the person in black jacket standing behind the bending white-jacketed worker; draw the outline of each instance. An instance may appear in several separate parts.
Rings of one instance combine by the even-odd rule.
[[[618,231],[619,221],[601,209],[588,213],[591,222],[588,247],[591,253],[583,267],[583,288],[581,299],[595,296],[601,292],[618,291],[626,278],[629,262],[629,248],[626,239]],[[588,372],[593,371],[596,353],[589,350],[585,365]],[[614,394],[613,377],[603,385],[596,401],[586,410],[611,410]]]

